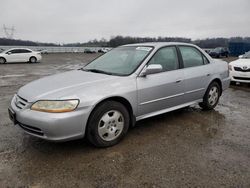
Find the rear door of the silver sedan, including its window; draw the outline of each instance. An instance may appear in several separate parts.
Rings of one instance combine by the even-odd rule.
[[[184,70],[185,102],[202,99],[211,78],[212,67],[202,52],[192,46],[179,46]]]

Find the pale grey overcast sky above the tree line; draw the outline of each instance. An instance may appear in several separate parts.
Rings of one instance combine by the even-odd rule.
[[[111,36],[250,36],[250,0],[1,0],[14,38],[71,43]]]

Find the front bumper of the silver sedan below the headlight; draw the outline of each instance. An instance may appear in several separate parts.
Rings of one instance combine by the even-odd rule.
[[[30,110],[29,107],[19,109],[14,98],[10,110],[15,114],[15,124],[26,133],[50,141],[84,137],[89,108],[78,108],[67,113],[46,113]]]

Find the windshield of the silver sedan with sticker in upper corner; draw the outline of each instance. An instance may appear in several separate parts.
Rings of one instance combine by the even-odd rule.
[[[122,46],[100,56],[83,70],[114,75],[130,75],[141,64],[153,47]]]

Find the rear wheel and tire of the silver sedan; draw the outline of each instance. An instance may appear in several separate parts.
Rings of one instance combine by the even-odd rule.
[[[200,103],[200,107],[203,110],[212,110],[219,102],[221,88],[217,82],[212,82],[203,97],[203,102]]]

